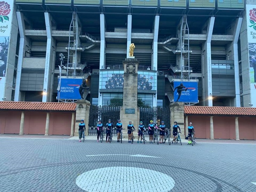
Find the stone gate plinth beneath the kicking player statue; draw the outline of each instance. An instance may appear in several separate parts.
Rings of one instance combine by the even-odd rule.
[[[174,102],[170,104],[171,112],[171,129],[173,128],[174,121],[177,121],[177,124],[181,128],[181,139],[185,139],[185,128],[184,127],[184,103],[183,102]],[[171,130],[173,132],[173,130]]]

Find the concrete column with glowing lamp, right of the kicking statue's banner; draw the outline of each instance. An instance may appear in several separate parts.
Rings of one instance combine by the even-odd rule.
[[[215,17],[211,17],[207,24],[207,38],[202,47],[202,83],[203,101],[205,106],[212,106],[212,58],[211,40]]]

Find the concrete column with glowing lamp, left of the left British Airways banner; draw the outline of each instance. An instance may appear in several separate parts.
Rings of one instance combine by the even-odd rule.
[[[46,56],[44,68],[44,84],[43,84],[43,99],[42,102],[50,102],[52,98],[53,74],[54,74],[54,59],[55,59],[55,40],[52,38],[51,17],[49,13],[44,13],[46,25]]]

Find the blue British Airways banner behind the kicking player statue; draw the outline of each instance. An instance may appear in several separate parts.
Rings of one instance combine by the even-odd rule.
[[[198,103],[197,83],[174,81],[174,102]]]

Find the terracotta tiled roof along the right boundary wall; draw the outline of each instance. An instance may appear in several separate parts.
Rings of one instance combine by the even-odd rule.
[[[256,108],[184,106],[184,113],[186,115],[256,116]]]

